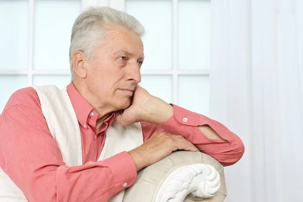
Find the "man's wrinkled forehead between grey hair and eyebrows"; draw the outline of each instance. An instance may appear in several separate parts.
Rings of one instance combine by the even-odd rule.
[[[111,53],[120,50],[132,54],[143,53],[143,42],[141,38],[130,30],[124,28],[110,29],[106,33],[107,44],[111,48]]]

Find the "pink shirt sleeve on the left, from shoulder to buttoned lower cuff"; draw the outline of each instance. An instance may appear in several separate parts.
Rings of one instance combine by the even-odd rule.
[[[0,115],[0,138],[0,167],[29,201],[107,201],[137,177],[126,151],[102,161],[66,166],[29,91],[10,98]]]

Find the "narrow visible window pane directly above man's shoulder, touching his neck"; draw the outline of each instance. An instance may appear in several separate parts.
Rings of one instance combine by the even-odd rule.
[[[70,75],[34,75],[33,85],[55,85],[60,89],[63,89],[71,82]]]

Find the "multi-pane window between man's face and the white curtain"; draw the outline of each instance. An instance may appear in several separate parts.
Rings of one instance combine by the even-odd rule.
[[[145,27],[142,82],[150,94],[209,114],[211,1],[126,0]]]

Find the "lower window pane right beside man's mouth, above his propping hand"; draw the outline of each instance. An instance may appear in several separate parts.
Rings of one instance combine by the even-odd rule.
[[[162,100],[172,103],[172,77],[166,75],[142,75],[139,84],[151,95],[157,96]]]

